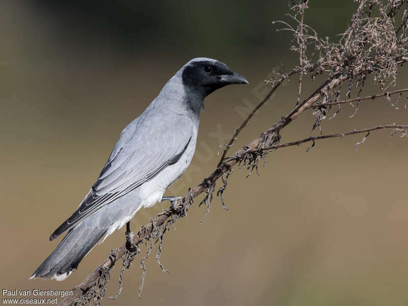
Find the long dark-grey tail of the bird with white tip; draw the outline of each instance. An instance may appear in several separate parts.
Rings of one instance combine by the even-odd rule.
[[[81,260],[106,233],[106,228],[87,227],[86,222],[81,222],[68,232],[57,248],[34,271],[30,279],[41,277],[63,281],[77,269]]]

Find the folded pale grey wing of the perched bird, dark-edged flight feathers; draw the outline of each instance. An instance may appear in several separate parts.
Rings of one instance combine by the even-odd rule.
[[[189,117],[166,115],[139,122],[121,135],[111,157],[78,209],[50,236],[53,240],[115,199],[151,180],[184,154],[193,134]],[[142,123],[142,125],[140,125]],[[145,123],[145,124],[144,124]]]

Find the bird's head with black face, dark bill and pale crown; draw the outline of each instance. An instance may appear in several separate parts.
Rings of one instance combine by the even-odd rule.
[[[227,65],[209,58],[195,58],[183,66],[184,86],[207,96],[230,84],[248,84],[248,81]]]

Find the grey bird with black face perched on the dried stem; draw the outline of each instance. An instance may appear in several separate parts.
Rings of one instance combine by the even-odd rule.
[[[141,208],[176,197],[163,197],[193,158],[203,100],[231,84],[248,84],[224,63],[211,58],[188,61],[157,97],[120,133],[96,182],[80,206],[50,236],[68,231],[34,271],[33,278],[63,281],[81,260]]]

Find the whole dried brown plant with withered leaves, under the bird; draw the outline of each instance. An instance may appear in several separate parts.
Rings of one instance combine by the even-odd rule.
[[[140,253],[140,245],[144,241],[147,254],[141,259],[143,272],[139,290],[140,295],[146,275],[144,262],[150,255],[152,248],[159,242],[156,259],[162,270],[167,271],[160,262],[160,253],[163,249],[163,235],[169,232],[179,218],[186,216],[187,211],[194,205],[194,198],[201,193],[206,193],[205,198],[200,202],[200,204],[205,204],[206,206],[205,215],[201,222],[205,219],[210,210],[210,203],[213,199],[218,179],[221,179],[222,186],[219,187],[217,195],[221,197],[222,205],[226,208],[223,192],[226,190],[228,177],[233,173],[233,167],[236,165],[238,167],[247,167],[249,174],[251,174],[253,170],[258,170],[258,163],[261,160],[265,161],[265,157],[278,148],[311,142],[307,149],[309,150],[314,147],[318,140],[364,133],[365,136],[362,141],[356,143],[357,148],[366,141],[371,131],[380,129],[391,129],[391,136],[397,133],[401,137],[407,135],[408,124],[392,123],[281,143],[282,137],[280,133],[282,129],[309,109],[312,110],[312,116],[316,119],[312,129],[319,127],[321,133],[321,122],[332,112],[332,107],[334,106],[337,106],[337,110],[332,112],[329,119],[339,113],[340,107],[343,104],[356,103],[355,114],[361,101],[373,101],[379,97],[385,97],[390,105],[396,109],[398,109],[399,100],[402,99],[405,101],[404,108],[406,109],[408,103],[406,93],[408,88],[393,91],[386,90],[396,85],[398,72],[403,67],[403,63],[408,61],[408,0],[360,0],[355,2],[357,2],[356,6],[358,8],[351,17],[346,31],[335,42],[331,41],[328,37],[319,37],[316,31],[307,24],[304,24],[304,15],[309,8],[308,0],[290,2],[290,21],[276,21],[276,23],[285,26],[285,28],[278,31],[287,30],[293,34],[290,49],[298,54],[299,64],[288,73],[274,71],[275,77],[266,80],[266,83],[271,85],[271,90],[241,123],[238,129],[234,131],[230,142],[225,144],[222,157],[214,172],[196,187],[190,189],[187,195],[179,200],[177,203],[179,211],[164,210],[143,226],[136,235],[127,235],[127,247],[126,244],[123,244],[112,251],[110,257],[88,275],[79,286],[75,287],[73,295],[63,300],[61,305],[86,305],[91,302],[99,305],[101,298],[105,295],[106,287],[110,280],[110,273],[115,262],[122,258],[123,265],[119,278],[119,291],[113,297],[117,298],[122,290],[123,273],[130,268],[135,257]],[[271,98],[279,86],[295,74],[298,74],[299,84],[296,97],[294,98],[294,109],[288,115],[282,117],[270,129],[263,132],[258,138],[237,151],[235,155],[227,157],[227,152],[235,144],[239,133],[252,116]],[[314,82],[320,79],[322,79],[322,82],[305,99],[301,100],[302,80],[305,75],[309,75]],[[378,85],[379,90],[382,92],[360,96],[367,82]],[[351,97],[352,89],[358,91],[356,97]],[[344,93],[348,99],[340,100],[341,94]],[[395,103],[393,103],[394,95],[398,95]]]

